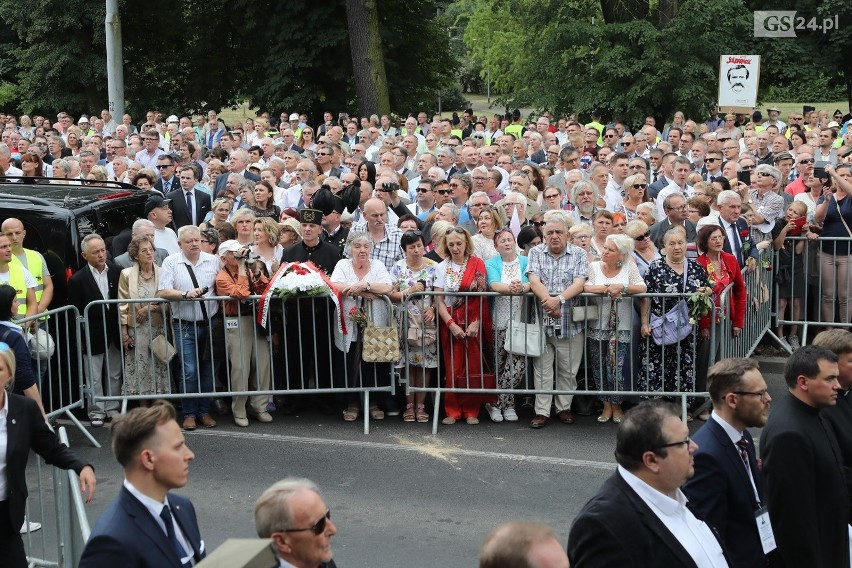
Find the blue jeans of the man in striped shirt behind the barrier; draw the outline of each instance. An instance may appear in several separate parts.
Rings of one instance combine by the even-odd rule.
[[[213,366],[208,353],[210,328],[195,322],[173,322],[177,349],[177,382],[184,393],[212,393]],[[184,398],[183,415],[201,417],[210,414],[210,398]]]

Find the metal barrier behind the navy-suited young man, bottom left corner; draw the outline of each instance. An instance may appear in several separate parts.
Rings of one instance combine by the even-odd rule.
[[[69,445],[65,428],[59,428],[57,434],[60,442]],[[73,470],[46,468],[39,458],[35,471],[28,469],[27,488],[25,522],[42,525],[23,537],[29,566],[76,567],[91,533],[79,476]],[[52,511],[52,519],[47,511]]]

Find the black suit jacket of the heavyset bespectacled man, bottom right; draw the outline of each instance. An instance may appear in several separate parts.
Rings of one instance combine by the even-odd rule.
[[[618,472],[601,485],[574,519],[568,533],[568,558],[572,568],[696,566]]]

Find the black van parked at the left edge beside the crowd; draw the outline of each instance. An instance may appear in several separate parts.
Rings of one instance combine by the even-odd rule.
[[[69,183],[70,182],[70,183]],[[110,241],[145,215],[151,192],[118,182],[51,178],[0,178],[0,223],[20,219],[24,247],[44,255],[53,275],[52,308],[64,306],[68,279],[85,265],[80,243],[97,233]]]

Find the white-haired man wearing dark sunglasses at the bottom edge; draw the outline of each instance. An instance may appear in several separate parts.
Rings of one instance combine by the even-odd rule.
[[[309,479],[288,477],[264,491],[254,505],[254,526],[257,536],[272,539],[282,566],[337,566],[331,550],[337,527],[319,489]]]

